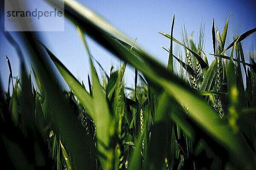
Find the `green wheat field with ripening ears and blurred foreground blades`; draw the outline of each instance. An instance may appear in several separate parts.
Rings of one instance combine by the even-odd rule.
[[[253,53],[245,56],[241,45],[256,28],[227,42],[231,15],[224,16],[223,32],[213,19],[212,32],[207,33],[212,34],[210,40],[204,40],[203,25],[197,39],[184,27],[181,42],[172,37],[173,31],[159,32],[163,40],[170,40],[170,46],[163,47],[169,60],[162,65],[136,40],[73,0],[65,0],[65,17],[76,26],[87,51],[88,85],[76,79],[35,32],[20,32],[32,65],[27,70],[21,47],[9,32],[4,33],[20,56],[21,76],[13,77],[12,61],[6,55],[10,76],[8,91],[0,86],[1,166],[10,170],[256,169],[256,60]],[[172,30],[174,23],[175,16]],[[100,77],[86,37],[118,57],[121,67],[102,70]],[[206,57],[209,51],[202,49],[205,41],[212,42],[212,63]],[[180,48],[174,54],[177,44]],[[51,62],[69,90],[61,88]],[[124,81],[127,65],[135,72],[135,78],[128,80],[135,82],[132,88]]]

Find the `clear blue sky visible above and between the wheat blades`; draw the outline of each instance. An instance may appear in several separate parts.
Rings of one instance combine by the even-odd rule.
[[[143,47],[164,65],[167,65],[168,53],[160,45],[169,48],[170,41],[157,33],[157,31],[170,34],[172,17],[175,14],[174,37],[180,40],[180,31],[183,22],[188,34],[194,31],[194,38],[201,21],[205,23],[205,48],[209,62],[213,57],[208,53],[212,50],[212,20],[222,33],[230,11],[233,11],[227,32],[226,46],[232,42],[232,34],[240,35],[256,27],[256,1],[255,0],[79,0],[81,4],[92,9],[109,23],[118,28],[132,40],[138,37],[136,44]],[[3,23],[3,18],[1,18]],[[2,29],[2,28],[1,28]],[[76,27],[65,20],[63,32],[41,32],[42,42],[69,68],[74,76],[84,80],[87,84],[87,74],[90,73],[88,56],[76,32]],[[15,32],[12,32],[15,36]],[[90,38],[89,48],[91,54],[101,63],[109,73],[111,65],[118,68],[121,64],[108,51],[105,51]],[[18,39],[17,39],[18,41]],[[256,34],[248,37],[243,42],[245,54],[248,54],[256,45]],[[180,46],[174,42],[174,53]],[[5,54],[9,56],[12,64],[13,75],[20,76],[19,59],[14,48],[0,33],[0,78],[3,88],[7,89],[9,69]],[[227,52],[230,54],[230,52]],[[248,62],[248,55],[246,61]],[[27,62],[30,65],[29,61]],[[96,68],[98,66],[96,65]],[[98,69],[99,70],[99,69]],[[126,84],[134,84],[134,70],[128,67],[126,71]]]

